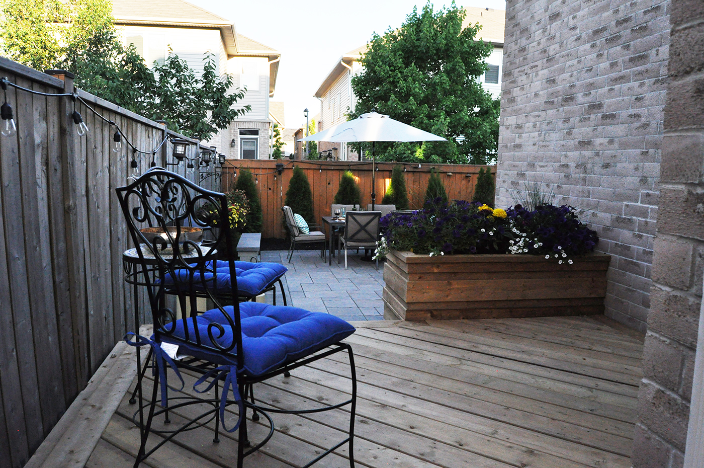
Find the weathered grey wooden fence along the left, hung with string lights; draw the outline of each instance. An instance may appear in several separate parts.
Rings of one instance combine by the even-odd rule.
[[[6,58],[0,70],[30,90],[73,92],[69,78]],[[159,123],[92,94],[78,96],[139,149],[156,149],[167,136]],[[111,151],[115,127],[80,99],[75,109],[89,129],[83,137],[71,120],[71,97],[8,86],[7,101],[17,135],[0,137],[0,467],[19,468],[113,345],[134,330],[122,269],[131,240],[115,196],[132,173],[132,152],[126,145]],[[152,159],[165,164],[171,150],[163,144],[156,154],[137,154],[139,171]],[[190,145],[189,156],[196,151]],[[184,164],[168,167],[184,173]],[[215,180],[205,176],[190,177]],[[144,305],[144,297],[138,301]]]

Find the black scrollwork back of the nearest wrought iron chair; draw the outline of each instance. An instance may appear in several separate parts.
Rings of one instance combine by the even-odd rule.
[[[222,193],[203,189],[189,180],[162,168],[153,168],[134,183],[116,189],[120,207],[125,214],[127,228],[139,257],[137,267],[147,285],[149,304],[153,316],[155,338],[162,336],[174,340],[207,346],[212,351],[231,352],[242,359],[241,324],[238,302],[234,301],[234,314],[225,312],[224,297],[237,297],[237,278],[232,275],[230,290],[214,288],[218,271],[213,268],[218,252],[227,255],[230,269],[234,268],[234,240],[228,220],[227,198]],[[214,242],[202,245],[188,238],[191,229],[220,227]],[[149,235],[142,228],[156,228],[161,235]],[[206,295],[210,309],[219,309],[222,323],[232,327],[232,340],[223,342],[223,328],[211,324],[205,330],[197,326],[196,317],[205,310],[199,309],[198,296]],[[177,316],[175,305],[181,312]],[[202,306],[201,306],[202,307]],[[191,321],[191,324],[180,324]],[[174,335],[182,330],[183,338]],[[208,338],[208,339],[205,339]],[[206,345],[207,343],[207,345]],[[240,362],[241,364],[241,362]]]

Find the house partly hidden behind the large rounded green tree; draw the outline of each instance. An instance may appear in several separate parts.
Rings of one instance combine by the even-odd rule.
[[[479,23],[482,29],[477,33],[477,39],[491,42],[494,51],[486,58],[489,69],[479,77],[479,81],[484,84],[484,89],[491,92],[494,97],[501,94],[501,67],[503,66],[503,29],[505,24],[505,11],[494,10],[493,8],[465,8],[467,17],[463,22],[463,27]],[[352,91],[352,77],[358,75],[363,70],[360,62],[361,55],[364,54],[367,45],[358,47],[346,54],[343,54],[337,63],[332,67],[315,97],[320,99],[320,130],[325,130],[333,125],[347,120],[347,114],[354,111],[357,98]],[[337,159],[352,161],[358,159],[358,154],[348,147],[346,143],[320,142],[318,149],[324,151],[337,147]]]

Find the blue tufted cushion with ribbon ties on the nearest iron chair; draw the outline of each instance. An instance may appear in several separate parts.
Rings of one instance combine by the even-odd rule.
[[[234,307],[224,307],[230,315]],[[242,349],[244,350],[244,369],[251,376],[260,376],[277,367],[294,362],[322,350],[354,333],[355,328],[346,321],[330,314],[309,312],[298,307],[274,306],[260,302],[242,302],[239,304],[242,324]],[[215,348],[208,336],[210,324],[220,324],[225,329],[222,336],[217,328],[212,328],[215,341],[221,347],[228,347],[233,340],[233,329],[219,309],[210,309],[196,317],[201,343]],[[234,322],[233,322],[234,323]],[[161,335],[162,341],[180,346],[179,352],[215,364],[237,364],[237,356],[232,352],[223,353],[207,350],[194,343],[181,343],[170,340],[171,336],[185,339],[184,324],[188,327],[189,340],[195,341],[193,319],[177,321],[171,335]]]

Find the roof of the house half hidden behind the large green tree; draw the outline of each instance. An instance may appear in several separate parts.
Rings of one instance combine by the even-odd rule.
[[[465,8],[467,11],[467,16],[462,23],[462,27],[465,28],[469,25],[475,25],[479,23],[482,28],[477,32],[477,37],[475,39],[483,39],[485,42],[491,42],[494,46],[503,47],[503,30],[506,23],[506,12],[504,10],[495,10],[494,8]],[[327,73],[325,80],[322,80],[318,91],[315,92],[315,97],[322,97],[323,94],[332,83],[337,80],[339,75],[349,69],[353,61],[359,61],[360,54],[363,54],[367,50],[368,44],[357,47],[343,54],[337,63],[332,67],[332,70]]]

